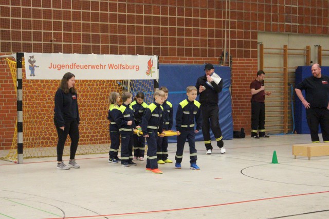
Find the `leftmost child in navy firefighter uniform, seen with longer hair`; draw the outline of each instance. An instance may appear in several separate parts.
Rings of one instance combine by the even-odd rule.
[[[109,138],[111,138],[111,147],[109,147],[109,163],[118,163],[121,159],[118,158],[119,145],[120,145],[120,133],[119,127],[114,121],[116,114],[118,114],[120,104],[120,94],[117,92],[111,92],[108,97],[109,108],[107,119],[109,120]]]

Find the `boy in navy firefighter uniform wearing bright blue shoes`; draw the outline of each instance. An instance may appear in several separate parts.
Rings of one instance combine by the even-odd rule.
[[[196,149],[195,149],[195,133],[198,133],[202,127],[202,115],[200,111],[200,103],[195,100],[197,89],[194,86],[186,88],[188,98],[181,101],[176,113],[176,130],[177,130],[177,151],[176,151],[176,169],[181,169],[181,160],[183,157],[184,144],[188,139],[190,146],[190,163],[192,170],[200,170],[196,165]],[[196,129],[194,130],[194,118],[196,121]],[[180,133],[180,134],[179,134]]]

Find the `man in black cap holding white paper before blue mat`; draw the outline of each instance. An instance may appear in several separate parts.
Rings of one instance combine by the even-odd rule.
[[[221,153],[225,154],[222,130],[219,122],[218,94],[223,89],[223,80],[214,72],[214,66],[210,63],[205,66],[205,76],[199,77],[195,87],[200,95],[201,112],[203,117],[202,133],[207,149],[207,154],[212,152],[210,128],[213,132],[217,146]]]

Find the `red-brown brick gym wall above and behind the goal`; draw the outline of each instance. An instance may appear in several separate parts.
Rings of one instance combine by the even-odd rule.
[[[218,64],[228,39],[234,129],[249,130],[249,83],[257,72],[258,32],[326,35],[329,6],[318,0],[230,2],[0,0],[0,53],[157,54],[160,63]],[[0,99],[14,108],[8,111],[1,101],[0,114],[12,123],[15,100],[3,92],[11,83],[6,66],[0,66],[0,75]],[[6,121],[0,121],[0,131],[7,130]],[[0,143],[0,149],[10,144],[7,137]]]

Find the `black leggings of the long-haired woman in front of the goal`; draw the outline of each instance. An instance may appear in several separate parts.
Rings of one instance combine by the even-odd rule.
[[[77,120],[65,121],[64,130],[60,129],[56,119],[54,119],[54,123],[58,134],[57,161],[63,161],[63,151],[67,135],[71,138],[70,160],[73,160],[76,156],[80,138]]]

